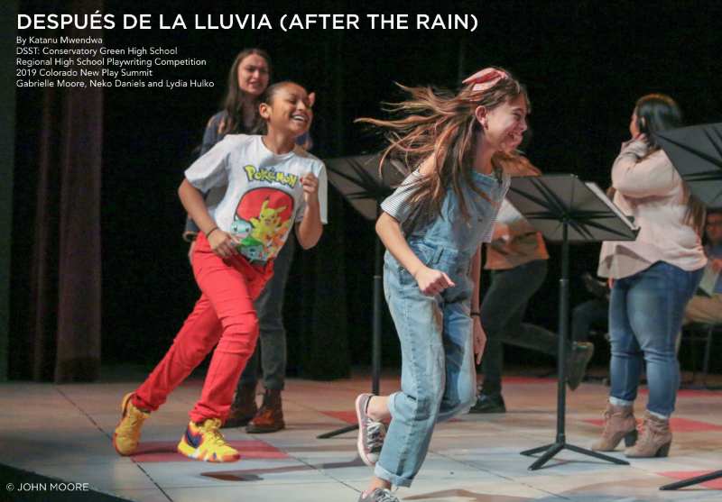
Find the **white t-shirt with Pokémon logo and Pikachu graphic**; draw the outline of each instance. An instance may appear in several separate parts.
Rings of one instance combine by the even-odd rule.
[[[306,202],[301,178],[319,178],[321,222],[327,220],[326,168],[319,159],[296,146],[276,155],[261,136],[229,134],[186,169],[185,176],[202,192],[228,185],[226,196],[209,209],[218,227],[240,242],[248,260],[273,260],[295,222],[303,219]]]

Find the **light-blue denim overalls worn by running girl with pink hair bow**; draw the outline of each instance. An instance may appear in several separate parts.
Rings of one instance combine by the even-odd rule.
[[[454,287],[427,297],[391,253],[386,251],[384,257],[384,293],[401,341],[403,364],[401,391],[389,396],[392,422],[375,475],[396,486],[411,485],[426,457],[434,424],[468,409],[476,397],[469,316],[474,283],[469,267],[479,245],[490,240],[509,179],[477,171],[472,176],[489,200],[464,187],[468,221],[449,188],[440,217],[406,236],[416,256],[431,269],[446,272]],[[408,195],[404,185],[410,178],[382,204],[394,217],[393,204],[388,203]]]

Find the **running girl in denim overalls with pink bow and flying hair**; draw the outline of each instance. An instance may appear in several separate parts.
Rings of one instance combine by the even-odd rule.
[[[393,111],[407,116],[361,119],[390,132],[384,158],[416,169],[384,200],[376,223],[388,250],[384,291],[401,341],[402,385],[391,396],[356,398],[359,455],[375,465],[360,502],[396,502],[389,488],[411,485],[434,424],[475,399],[473,354],[480,361],[486,342],[476,311],[480,246],[509,187],[493,157],[522,141],[529,101],[503,69],[464,83],[456,96],[403,87],[411,99]]]

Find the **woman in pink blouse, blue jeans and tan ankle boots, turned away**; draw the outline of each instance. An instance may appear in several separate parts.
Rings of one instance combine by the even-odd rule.
[[[684,184],[653,133],[682,125],[679,106],[653,94],[637,101],[632,140],[612,167],[614,202],[634,217],[634,242],[604,242],[597,273],[613,282],[609,305],[611,388],[605,428],[592,449],[608,452],[624,438],[627,457],[664,457],[680,370],[675,341],[684,307],[707,259],[700,242],[704,208]],[[649,400],[637,440],[634,398],[646,363]]]

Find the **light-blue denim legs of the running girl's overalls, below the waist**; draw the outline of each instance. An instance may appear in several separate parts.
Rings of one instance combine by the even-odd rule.
[[[435,268],[454,267],[436,263]],[[427,297],[393,258],[384,264],[384,293],[401,341],[402,376],[401,391],[389,396],[392,421],[374,473],[395,486],[411,486],[426,458],[434,424],[475,402],[470,281],[451,278],[465,285],[453,301],[444,295]]]

